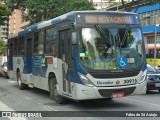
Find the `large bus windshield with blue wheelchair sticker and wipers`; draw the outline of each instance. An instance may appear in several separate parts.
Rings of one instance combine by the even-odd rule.
[[[142,33],[139,28],[79,28],[81,63],[94,70],[136,68],[143,62]]]

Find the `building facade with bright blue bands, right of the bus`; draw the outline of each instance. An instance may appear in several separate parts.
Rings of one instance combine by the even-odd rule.
[[[137,10],[143,27],[146,44],[160,44],[160,4],[145,6]]]

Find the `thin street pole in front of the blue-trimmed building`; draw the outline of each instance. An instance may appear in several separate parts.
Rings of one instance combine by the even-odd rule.
[[[156,44],[157,44],[157,15],[155,16],[155,41],[154,41],[154,68],[156,68]]]

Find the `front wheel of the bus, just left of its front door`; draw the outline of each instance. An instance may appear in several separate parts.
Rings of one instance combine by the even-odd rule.
[[[59,95],[57,81],[56,78],[50,78],[49,80],[49,88],[50,88],[50,98],[55,100],[58,104],[63,104],[66,102],[66,99]]]

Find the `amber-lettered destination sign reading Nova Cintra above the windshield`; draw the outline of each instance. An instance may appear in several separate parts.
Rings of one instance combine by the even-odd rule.
[[[138,24],[135,15],[78,15],[78,23],[86,24]]]

